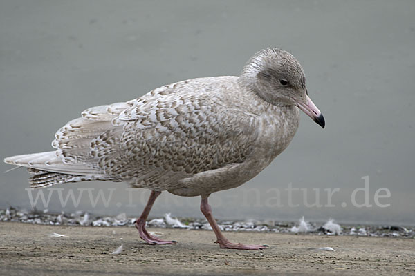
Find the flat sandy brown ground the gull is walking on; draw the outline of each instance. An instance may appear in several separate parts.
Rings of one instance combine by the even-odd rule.
[[[149,229],[176,245],[149,246],[135,228],[0,223],[1,275],[414,275],[415,239],[225,233],[261,251],[220,249],[203,230]],[[115,231],[115,232],[113,232]],[[68,237],[50,237],[52,233]],[[123,244],[119,255],[113,250]],[[316,248],[330,246],[336,251]]]

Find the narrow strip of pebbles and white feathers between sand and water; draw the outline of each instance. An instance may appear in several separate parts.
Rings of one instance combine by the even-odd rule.
[[[156,218],[147,222],[148,226],[157,228],[177,228],[171,221],[163,218]],[[133,227],[135,218],[127,217],[125,213],[117,216],[95,216],[83,211],[75,213],[50,213],[48,210],[19,210],[7,208],[0,210],[0,221],[15,221],[29,224],[62,225],[62,226],[128,226]],[[182,218],[178,219],[181,225],[192,230],[212,230],[205,219]],[[252,232],[274,232],[292,233],[291,229],[297,222],[286,221],[218,221],[219,227],[224,231],[252,231]],[[304,234],[295,235],[333,235],[330,231],[324,230],[324,224],[310,223],[310,231]],[[342,225],[342,232],[338,235],[358,235],[367,237],[405,237],[415,238],[415,227],[384,226],[384,225]]]

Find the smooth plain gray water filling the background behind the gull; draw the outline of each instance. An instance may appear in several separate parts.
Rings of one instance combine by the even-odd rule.
[[[266,170],[210,197],[214,215],[414,225],[414,14],[414,1],[0,1],[0,157],[52,150],[55,131],[91,106],[239,75],[278,46],[302,63],[326,128],[302,115]],[[0,174],[0,208],[30,208],[43,193],[38,209],[138,215],[148,195],[107,182],[30,192],[27,177]],[[62,204],[71,191],[79,204]],[[91,202],[99,193],[107,206]],[[164,193],[151,215],[166,212],[201,217],[199,198]]]

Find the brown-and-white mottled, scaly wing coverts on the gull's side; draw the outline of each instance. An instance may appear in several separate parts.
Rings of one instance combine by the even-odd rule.
[[[136,186],[165,189],[178,179],[243,162],[257,138],[257,117],[198,85],[176,83],[160,88],[163,95],[130,101],[113,120],[122,132],[108,130],[93,139],[98,166]]]

